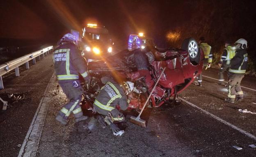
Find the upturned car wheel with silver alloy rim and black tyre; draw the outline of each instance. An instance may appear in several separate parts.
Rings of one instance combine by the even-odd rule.
[[[198,65],[200,62],[200,49],[197,41],[193,38],[187,38],[183,41],[181,45],[181,49],[186,50],[188,52],[190,62],[193,65]]]

